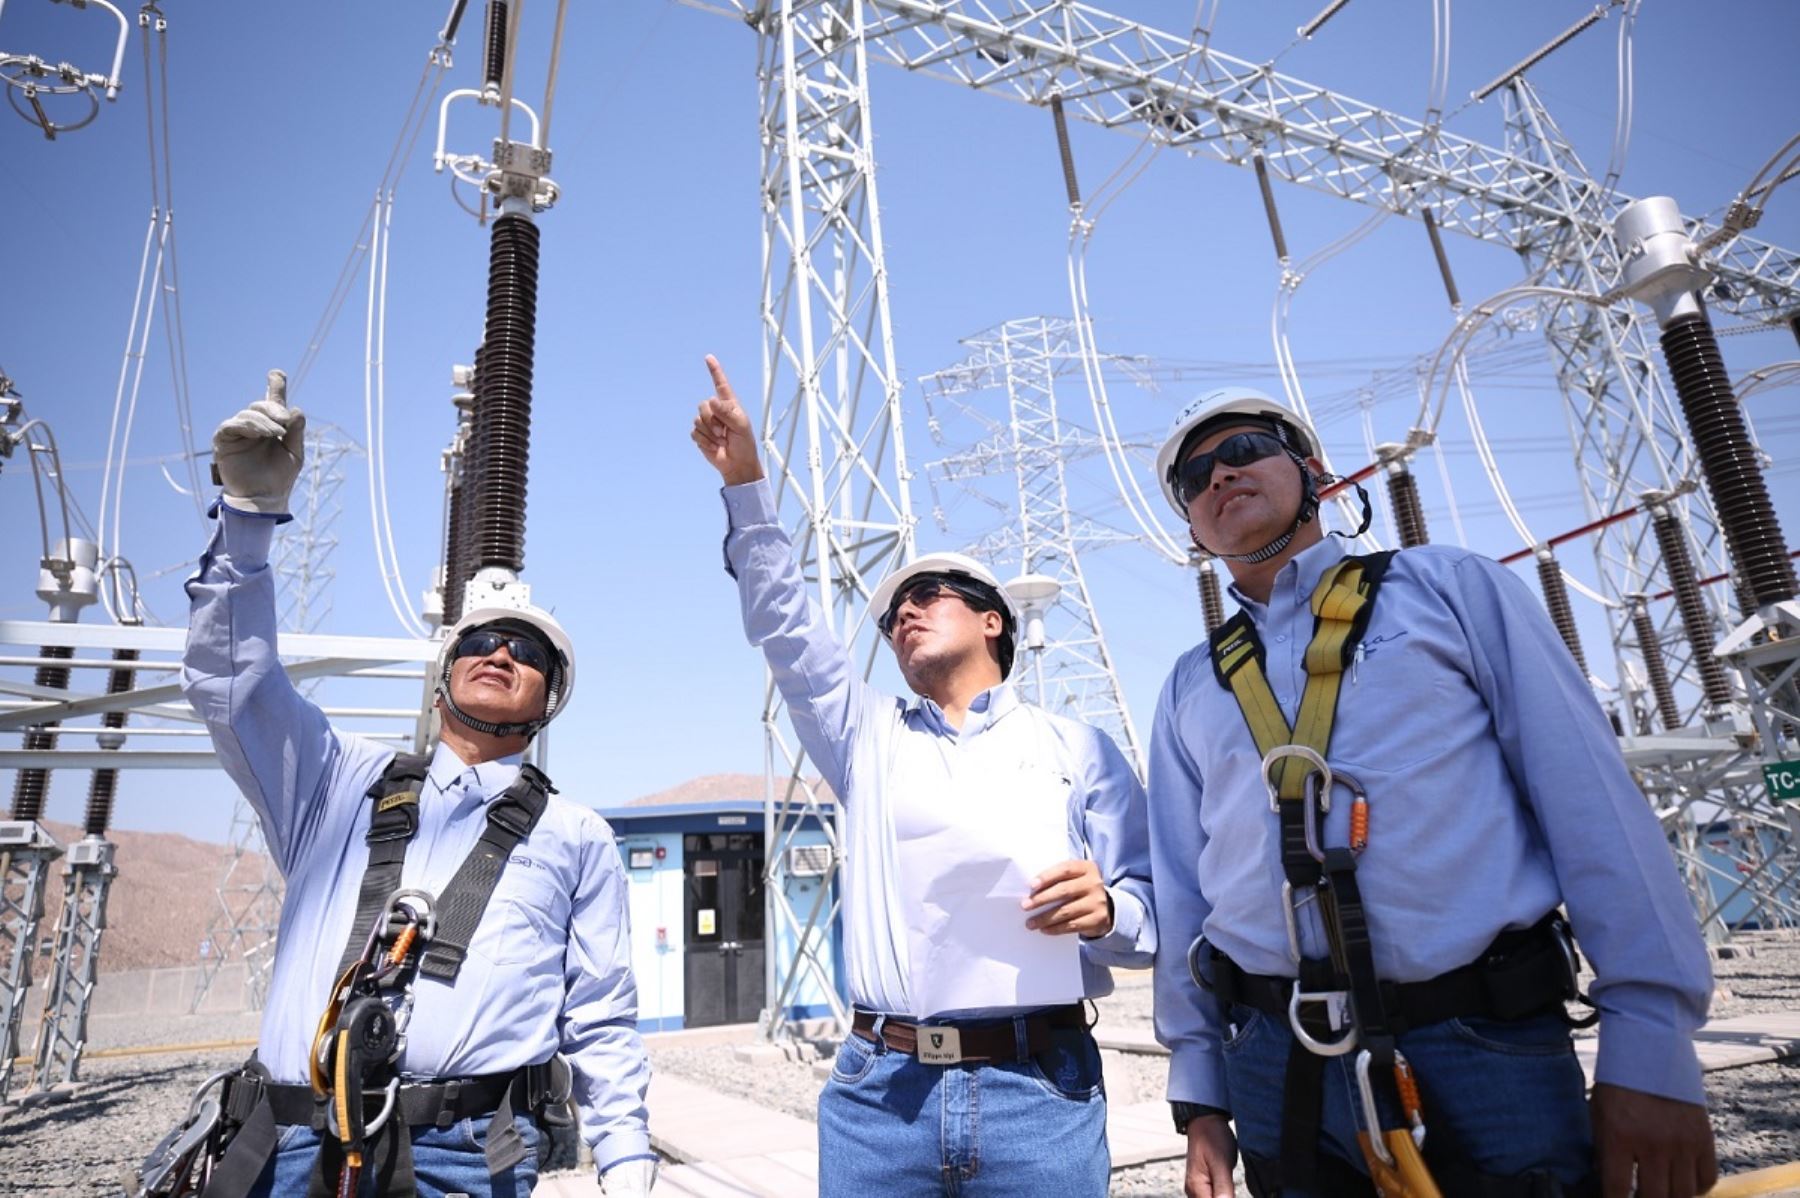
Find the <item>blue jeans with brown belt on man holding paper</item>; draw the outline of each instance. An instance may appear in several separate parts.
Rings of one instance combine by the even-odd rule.
[[[1102,1198],[1109,1171],[1100,1047],[1082,1029],[1012,1065],[922,1065],[851,1034],[819,1094],[821,1198]]]

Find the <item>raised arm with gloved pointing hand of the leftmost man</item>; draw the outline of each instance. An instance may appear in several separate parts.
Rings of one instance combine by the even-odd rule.
[[[304,853],[331,777],[355,752],[324,712],[288,682],[275,657],[275,577],[268,549],[288,520],[288,491],[301,469],[306,416],[286,403],[286,378],[270,372],[268,394],[212,437],[225,493],[218,527],[187,579],[187,653],[182,689],[212,734],[220,763],[256,808],[283,872]],[[369,764],[369,763],[356,763]]]

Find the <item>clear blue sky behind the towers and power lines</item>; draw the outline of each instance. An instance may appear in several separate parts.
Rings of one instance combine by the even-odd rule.
[[[196,443],[205,444],[223,416],[259,398],[266,369],[292,372],[302,360],[446,7],[164,4]],[[477,83],[481,7],[470,5],[450,86]],[[1116,0],[1111,7],[1179,32],[1193,18],[1188,0]],[[1318,7],[1316,0],[1226,2],[1213,45],[1253,61],[1280,54],[1285,74],[1418,115],[1431,5],[1355,0],[1314,41],[1292,45],[1296,25]],[[1472,88],[1589,7],[1586,0],[1454,5],[1449,108],[1458,110]],[[524,13],[518,94],[533,103],[544,88],[553,13],[549,0],[531,0]],[[0,14],[0,50],[92,68],[110,50],[104,27],[97,9],[11,0]],[[135,25],[131,36],[124,92],[92,126],[49,142],[25,121],[0,113],[9,200],[0,223],[9,282],[0,300],[0,367],[16,380],[29,412],[52,423],[90,514],[101,500],[101,460],[151,207]],[[1800,9],[1787,0],[1645,5],[1622,191],[1672,194],[1685,212],[1724,205],[1800,124],[1796,45]],[[1613,140],[1615,52],[1616,13],[1532,72],[1595,173],[1604,171]],[[563,198],[540,218],[526,577],[580,646],[580,693],[556,725],[551,768],[565,793],[598,806],[697,773],[761,770],[761,664],[743,644],[734,592],[720,572],[716,477],[686,434],[706,390],[704,353],[725,362],[740,390],[760,390],[754,70],[756,36],[740,22],[670,0],[571,5],[551,135]],[[871,92],[907,443],[923,464],[961,448],[956,437],[972,439],[976,430],[952,423],[950,444],[934,444],[918,376],[959,360],[961,336],[1013,317],[1067,315],[1067,210],[1048,112],[889,67],[873,70]],[[452,112],[452,148],[486,144],[486,115],[472,106]],[[1501,144],[1499,101],[1462,108],[1449,130]],[[445,176],[432,174],[434,133],[432,122],[405,158],[387,290],[389,504],[409,595],[427,585],[439,556],[439,455],[454,428],[450,365],[470,360],[486,295],[488,232],[457,209]],[[1075,130],[1076,164],[1091,189],[1134,148],[1120,133]],[[1278,198],[1296,259],[1368,216],[1368,209],[1294,187],[1280,187]],[[1777,194],[1757,234],[1800,245],[1800,187]],[[1451,237],[1449,254],[1465,300],[1519,281],[1516,255],[1501,246]],[[1280,394],[1269,340],[1276,281],[1255,178],[1175,151],[1157,155],[1107,209],[1089,255],[1105,349]],[[293,396],[313,421],[335,423],[358,441],[365,295],[367,277],[358,275]],[[128,448],[122,550],[146,579],[155,617],[180,624],[182,563],[198,552],[205,529],[191,500],[164,478],[164,466],[176,480],[185,468],[160,460],[182,448],[162,320],[158,311]],[[1345,396],[1375,371],[1435,351],[1449,331],[1422,227],[1390,219],[1321,266],[1294,300],[1291,329],[1309,396],[1339,412],[1323,428],[1334,460],[1361,464],[1363,430]],[[1541,335],[1521,336],[1539,353],[1516,354],[1503,374],[1478,365],[1476,394],[1514,495],[1534,532],[1548,536],[1584,514],[1548,354]],[[1733,376],[1796,356],[1787,333],[1723,344]],[[1116,390],[1121,423],[1159,435],[1181,401],[1211,385],[1204,380],[1165,383],[1154,394]],[[1386,394],[1373,410],[1375,432],[1395,441],[1417,408],[1409,387]],[[1091,423],[1078,378],[1058,398],[1071,421]],[[1800,543],[1795,392],[1764,392],[1751,414],[1775,459],[1777,509]],[[1469,545],[1496,556],[1517,549],[1460,416],[1445,419],[1444,435]],[[347,464],[324,628],[400,635],[374,568],[362,460]],[[20,459],[0,473],[4,619],[43,615],[32,595],[38,550],[27,473]],[[1084,511],[1123,522],[1102,462],[1080,464],[1075,477]],[[1148,471],[1143,482],[1150,486]],[[963,545],[992,527],[986,504],[961,500],[947,504],[952,527],[941,532],[929,520],[923,473],[914,486],[914,507],[925,516],[922,549]],[[1420,486],[1435,540],[1451,541],[1451,513],[1431,459],[1422,460]],[[1586,547],[1568,547],[1564,559],[1593,579]],[[1201,635],[1192,576],[1132,545],[1098,552],[1085,565],[1127,702],[1147,730],[1170,662]],[[1589,660],[1611,673],[1598,612],[1577,603]],[[85,619],[104,615],[94,610]],[[893,680],[893,671],[884,678]],[[376,702],[410,698],[389,687]],[[4,773],[0,786],[11,793]],[[59,775],[50,815],[77,818],[85,790],[85,775]],[[223,838],[229,808],[230,784],[221,775],[135,773],[121,784],[117,822]]]

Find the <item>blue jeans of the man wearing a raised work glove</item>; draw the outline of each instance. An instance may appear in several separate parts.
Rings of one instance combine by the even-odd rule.
[[[529,1115],[513,1115],[513,1122],[531,1151],[511,1169],[490,1176],[482,1148],[488,1142],[491,1119],[491,1115],[482,1115],[454,1122],[448,1128],[412,1130],[412,1173],[418,1178],[419,1198],[445,1198],[445,1194],[526,1198],[531,1193],[531,1187],[538,1184],[538,1151],[544,1146],[538,1124]],[[317,1131],[306,1124],[283,1126],[281,1139],[275,1140],[275,1158],[263,1169],[263,1176],[250,1189],[250,1198],[306,1194],[317,1157]],[[371,1173],[364,1173],[358,1193],[374,1194]]]

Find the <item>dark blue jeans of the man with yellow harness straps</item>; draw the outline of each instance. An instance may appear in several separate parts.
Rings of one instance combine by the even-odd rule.
[[[1226,1031],[1226,1088],[1238,1148],[1276,1162],[1287,1054],[1305,1049],[1294,1043],[1285,1018],[1244,1006],[1231,1009]],[[1400,1052],[1418,1077],[1427,1162],[1435,1149],[1453,1144],[1472,1167],[1494,1176],[1543,1169],[1571,1185],[1593,1173],[1588,1088],[1568,1025],[1555,1013],[1507,1024],[1444,1020],[1404,1033]],[[1377,1095],[1386,1090],[1377,1086]],[[1366,1173],[1355,1103],[1355,1054],[1328,1058],[1319,1151]],[[1381,1103],[1382,1119],[1397,1119],[1386,1097]],[[1282,1198],[1307,1196],[1283,1189]]]

